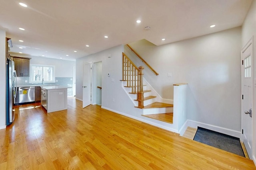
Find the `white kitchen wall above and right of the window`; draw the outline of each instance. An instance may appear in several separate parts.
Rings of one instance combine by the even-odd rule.
[[[17,53],[11,53],[12,56],[16,57],[28,57],[30,59],[30,64],[46,64],[55,65],[55,77],[73,77],[73,66],[76,66],[75,61],[51,59],[47,57],[36,57],[28,55],[20,55]]]

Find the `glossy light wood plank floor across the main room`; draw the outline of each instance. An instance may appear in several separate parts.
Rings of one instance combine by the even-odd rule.
[[[68,98],[68,110],[16,107],[0,130],[0,169],[256,169],[252,160]]]

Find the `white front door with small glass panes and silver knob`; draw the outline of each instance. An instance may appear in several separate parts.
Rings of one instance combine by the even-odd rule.
[[[242,140],[252,159],[252,41],[249,41],[242,49]],[[252,111],[251,111],[252,112]],[[252,115],[255,116],[255,115]]]

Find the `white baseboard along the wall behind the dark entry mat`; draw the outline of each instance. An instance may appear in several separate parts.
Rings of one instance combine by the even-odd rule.
[[[186,121],[186,128],[187,127],[197,128],[198,126],[203,127],[205,129],[210,129],[212,131],[224,133],[226,135],[230,135],[230,136],[233,136],[233,137],[241,138],[241,131],[235,131],[235,130],[232,130],[232,129],[219,127],[219,126],[215,126],[215,125],[210,125],[210,124],[207,124],[207,123],[202,123],[202,122],[193,121],[193,120],[187,120]]]

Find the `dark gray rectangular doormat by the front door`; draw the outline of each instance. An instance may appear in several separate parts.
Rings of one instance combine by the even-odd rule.
[[[193,140],[245,157],[237,137],[198,127]]]

